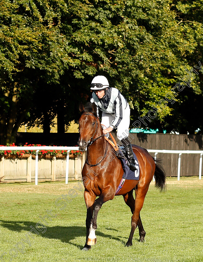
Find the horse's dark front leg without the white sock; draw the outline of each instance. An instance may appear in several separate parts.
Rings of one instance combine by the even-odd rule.
[[[87,251],[91,248],[91,246],[87,244],[87,240],[89,236],[90,223],[93,218],[93,212],[94,212],[93,204],[96,196],[90,194],[88,191],[85,191],[84,198],[85,198],[85,204],[87,206],[87,216],[86,216],[86,241],[83,250]]]

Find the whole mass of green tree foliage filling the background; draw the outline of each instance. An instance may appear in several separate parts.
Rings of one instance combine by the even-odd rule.
[[[96,74],[128,99],[133,121],[146,115],[201,61],[202,3],[2,0],[1,143],[13,142],[22,123],[37,120],[48,132],[56,115],[62,125],[77,121],[78,104],[89,99]],[[191,97],[202,97],[201,74],[191,85],[148,127],[201,129],[195,118],[188,124],[184,109]]]

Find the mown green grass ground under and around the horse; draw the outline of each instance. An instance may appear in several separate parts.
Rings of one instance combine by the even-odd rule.
[[[88,252],[81,250],[86,234],[86,207],[78,184],[81,182],[1,184],[0,261],[203,261],[203,179],[176,179],[168,178],[166,193],[158,192],[151,183],[141,210],[144,243],[138,242],[136,229],[133,246],[125,247],[131,213],[123,197],[117,196],[99,211],[98,242]],[[67,196],[66,206],[62,200],[56,206],[55,201],[62,194],[68,195],[74,186],[78,188],[72,194],[75,198],[71,201]],[[48,215],[46,210],[52,210],[52,221],[46,220],[46,228],[38,224],[38,229],[43,230],[38,235],[28,235],[30,226],[36,228],[40,222],[39,216]]]

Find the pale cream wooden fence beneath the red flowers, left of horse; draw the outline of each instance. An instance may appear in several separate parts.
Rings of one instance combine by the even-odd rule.
[[[82,167],[85,163],[86,152],[77,158],[69,158],[69,181],[81,180]],[[65,181],[66,158],[38,160],[38,181]],[[35,159],[4,158],[0,159],[0,177],[5,182],[34,182]]]

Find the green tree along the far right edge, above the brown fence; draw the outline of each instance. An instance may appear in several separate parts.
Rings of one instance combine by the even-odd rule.
[[[177,27],[184,36],[191,48],[181,53],[181,61],[184,63],[184,72],[177,78],[178,80],[184,75],[191,77],[191,88],[186,87],[177,96],[180,103],[172,106],[172,116],[164,118],[163,126],[167,130],[177,131],[179,133],[203,133],[203,123],[200,114],[203,111],[203,71],[198,70],[195,66],[203,65],[203,1],[172,1],[171,9],[176,13]],[[192,77],[188,71],[191,71]],[[188,70],[188,71],[186,71]]]

